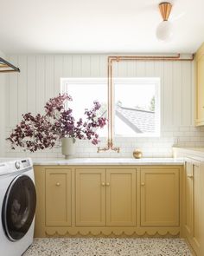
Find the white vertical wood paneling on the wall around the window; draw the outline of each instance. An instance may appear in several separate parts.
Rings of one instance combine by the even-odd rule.
[[[7,127],[16,125],[22,113],[41,112],[44,103],[60,92],[61,77],[106,77],[106,55],[10,56],[19,65],[20,74],[7,78]],[[119,62],[114,75],[161,78],[161,123],[194,123],[194,63],[191,62]]]

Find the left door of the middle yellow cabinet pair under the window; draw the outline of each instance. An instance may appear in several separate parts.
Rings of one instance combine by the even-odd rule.
[[[77,169],[76,226],[105,226],[105,169]]]

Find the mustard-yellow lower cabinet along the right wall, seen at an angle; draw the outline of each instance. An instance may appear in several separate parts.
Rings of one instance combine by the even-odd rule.
[[[185,181],[185,210],[184,210],[184,233],[193,246],[197,255],[201,254],[203,243],[203,220],[202,216],[202,175],[201,161],[187,159],[184,171]]]

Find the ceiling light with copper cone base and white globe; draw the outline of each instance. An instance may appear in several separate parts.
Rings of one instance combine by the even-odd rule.
[[[163,41],[169,42],[173,36],[172,23],[169,22],[169,15],[172,9],[172,4],[169,2],[159,3],[159,10],[163,17],[163,22],[159,23],[156,29],[156,37]]]

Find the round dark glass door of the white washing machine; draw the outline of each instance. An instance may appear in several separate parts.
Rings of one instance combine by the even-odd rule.
[[[10,183],[3,200],[3,228],[9,240],[20,240],[28,232],[34,219],[35,206],[34,182],[27,175],[17,176]]]

